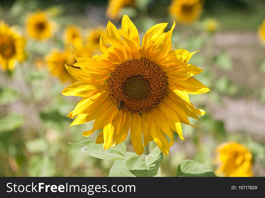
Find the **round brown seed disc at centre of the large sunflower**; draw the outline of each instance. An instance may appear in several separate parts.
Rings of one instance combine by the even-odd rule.
[[[167,76],[147,58],[129,59],[117,66],[108,79],[108,91],[123,111],[149,112],[167,94]]]

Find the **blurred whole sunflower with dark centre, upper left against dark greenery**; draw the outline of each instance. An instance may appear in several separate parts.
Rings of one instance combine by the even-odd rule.
[[[55,23],[44,12],[36,12],[28,17],[26,29],[30,37],[45,40],[53,36]]]

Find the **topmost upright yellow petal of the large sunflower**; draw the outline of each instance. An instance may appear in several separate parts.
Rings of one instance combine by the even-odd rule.
[[[139,33],[131,19],[124,14],[121,20],[121,29],[124,30],[136,44],[140,45]]]

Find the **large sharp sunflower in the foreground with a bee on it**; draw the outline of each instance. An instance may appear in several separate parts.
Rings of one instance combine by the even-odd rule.
[[[80,69],[65,66],[79,81],[67,86],[62,94],[83,97],[68,115],[76,117],[70,126],[95,120],[83,136],[103,129],[95,143],[103,143],[104,150],[123,142],[130,128],[138,155],[152,140],[168,155],[174,131],[185,140],[181,123],[191,125],[187,116],[199,119],[197,115],[205,114],[192,105],[188,94],[209,89],[192,77],[203,71],[187,63],[195,52],[171,50],[175,22],[164,33],[166,27],[167,23],[151,27],[140,46],[137,28],[124,15],[119,30],[108,22],[106,36],[111,46],[100,39],[101,56],[76,56],[73,65]]]

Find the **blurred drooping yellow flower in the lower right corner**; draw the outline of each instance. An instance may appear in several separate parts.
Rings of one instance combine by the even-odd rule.
[[[243,145],[237,142],[226,142],[216,149],[215,163],[219,164],[217,175],[225,177],[252,177],[252,155]]]

